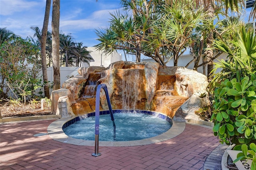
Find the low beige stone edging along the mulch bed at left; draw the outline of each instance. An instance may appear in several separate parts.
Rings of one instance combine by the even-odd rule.
[[[5,117],[0,119],[0,123],[16,122],[16,121],[36,121],[41,119],[60,119],[62,115],[41,115],[41,116],[26,116],[26,117]]]

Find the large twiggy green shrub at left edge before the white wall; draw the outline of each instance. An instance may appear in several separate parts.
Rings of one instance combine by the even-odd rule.
[[[29,40],[22,38],[11,39],[0,46],[0,73],[3,84],[0,86],[1,98],[22,98],[26,103],[26,97],[32,96],[40,86],[38,73],[40,63],[36,54],[38,48]],[[9,94],[12,91],[12,94]]]

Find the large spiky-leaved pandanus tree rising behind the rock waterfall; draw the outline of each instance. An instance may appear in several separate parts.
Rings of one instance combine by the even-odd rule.
[[[122,3],[125,10],[133,10],[134,16],[120,12],[111,14],[110,27],[96,31],[101,42],[96,49],[106,53],[124,49],[136,56],[139,51],[161,65],[174,58],[174,66],[177,66],[190,36],[208,16],[201,8],[195,10],[193,6],[196,4],[192,0],[171,4],[140,0]]]

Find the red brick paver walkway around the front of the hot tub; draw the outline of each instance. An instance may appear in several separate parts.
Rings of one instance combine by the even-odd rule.
[[[180,135],[144,146],[77,146],[52,140],[47,127],[55,120],[0,125],[1,170],[203,170],[218,145],[210,128],[186,124]],[[34,136],[42,133],[42,136]],[[44,134],[44,135],[43,135]]]

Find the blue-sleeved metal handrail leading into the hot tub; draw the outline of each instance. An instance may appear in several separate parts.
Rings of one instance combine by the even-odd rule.
[[[110,111],[111,121],[113,123],[113,137],[116,137],[116,125],[114,121],[114,115],[110,103],[110,98],[108,96],[108,89],[105,84],[100,84],[96,90],[96,102],[95,102],[95,151],[92,156],[100,156],[99,153],[99,133],[100,133],[100,89],[103,88],[106,94],[106,99],[108,102],[108,109]]]

